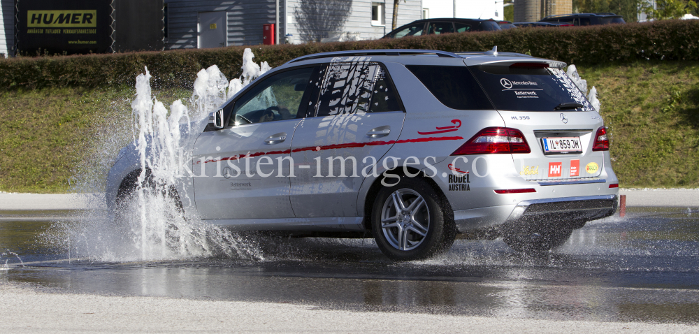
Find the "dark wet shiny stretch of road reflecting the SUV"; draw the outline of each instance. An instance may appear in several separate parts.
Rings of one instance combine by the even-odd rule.
[[[388,261],[370,240],[319,238],[261,238],[264,261],[53,262],[69,254],[46,241],[52,223],[7,214],[0,283],[343,310],[699,323],[696,209],[629,208],[624,219],[588,223],[545,256],[517,254],[499,240],[457,240],[443,256],[409,263]]]

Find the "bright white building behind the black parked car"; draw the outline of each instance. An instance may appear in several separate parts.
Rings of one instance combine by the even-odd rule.
[[[505,20],[503,5],[502,0],[422,0],[422,18]]]

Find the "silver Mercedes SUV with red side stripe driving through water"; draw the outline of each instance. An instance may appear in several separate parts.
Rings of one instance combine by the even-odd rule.
[[[373,236],[394,260],[457,235],[547,251],[617,208],[603,119],[563,67],[496,49],[299,57],[210,115],[177,191],[211,224]],[[134,189],[131,157],[108,203]]]

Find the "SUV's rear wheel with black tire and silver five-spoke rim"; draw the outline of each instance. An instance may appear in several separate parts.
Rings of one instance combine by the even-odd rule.
[[[396,204],[394,194],[401,198],[403,215],[395,210],[401,203]],[[412,212],[405,210],[406,206]],[[383,187],[371,212],[376,243],[391,260],[426,259],[445,252],[454,243],[456,226],[451,207],[425,180],[401,177],[398,184]]]

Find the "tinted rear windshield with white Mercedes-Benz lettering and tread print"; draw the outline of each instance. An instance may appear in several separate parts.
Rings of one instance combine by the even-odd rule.
[[[470,66],[498,110],[594,110],[560,68]]]

